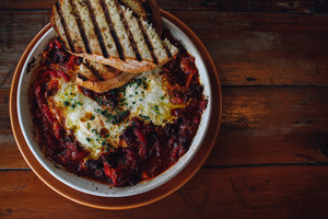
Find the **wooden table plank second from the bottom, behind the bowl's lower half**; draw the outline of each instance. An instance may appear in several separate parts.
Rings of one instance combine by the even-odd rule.
[[[8,95],[0,92],[0,107]],[[206,165],[328,162],[327,112],[327,87],[224,87],[222,126]],[[7,110],[0,118],[0,168],[26,168]]]

